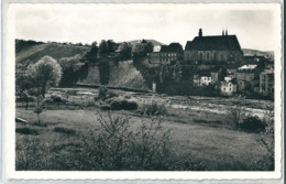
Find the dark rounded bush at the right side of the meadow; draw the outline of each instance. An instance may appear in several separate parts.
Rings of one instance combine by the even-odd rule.
[[[249,132],[261,132],[265,131],[266,123],[261,120],[257,116],[249,116],[246,117],[242,123],[240,123],[240,128],[244,131]]]

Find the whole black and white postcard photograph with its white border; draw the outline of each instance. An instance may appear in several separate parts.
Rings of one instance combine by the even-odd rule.
[[[280,174],[278,3],[10,8],[15,172]]]

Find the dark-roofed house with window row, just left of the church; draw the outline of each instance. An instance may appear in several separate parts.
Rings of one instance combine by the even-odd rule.
[[[169,64],[174,61],[183,59],[183,46],[179,43],[170,43],[169,45],[162,45],[160,50],[160,62]]]

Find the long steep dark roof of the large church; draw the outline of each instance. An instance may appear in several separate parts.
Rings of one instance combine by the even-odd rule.
[[[196,36],[186,51],[241,51],[237,35]]]

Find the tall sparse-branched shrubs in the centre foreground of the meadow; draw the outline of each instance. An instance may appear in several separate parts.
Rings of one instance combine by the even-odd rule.
[[[82,170],[168,170],[169,131],[162,131],[161,122],[142,122],[133,132],[129,117],[108,113],[98,121],[82,139]]]

